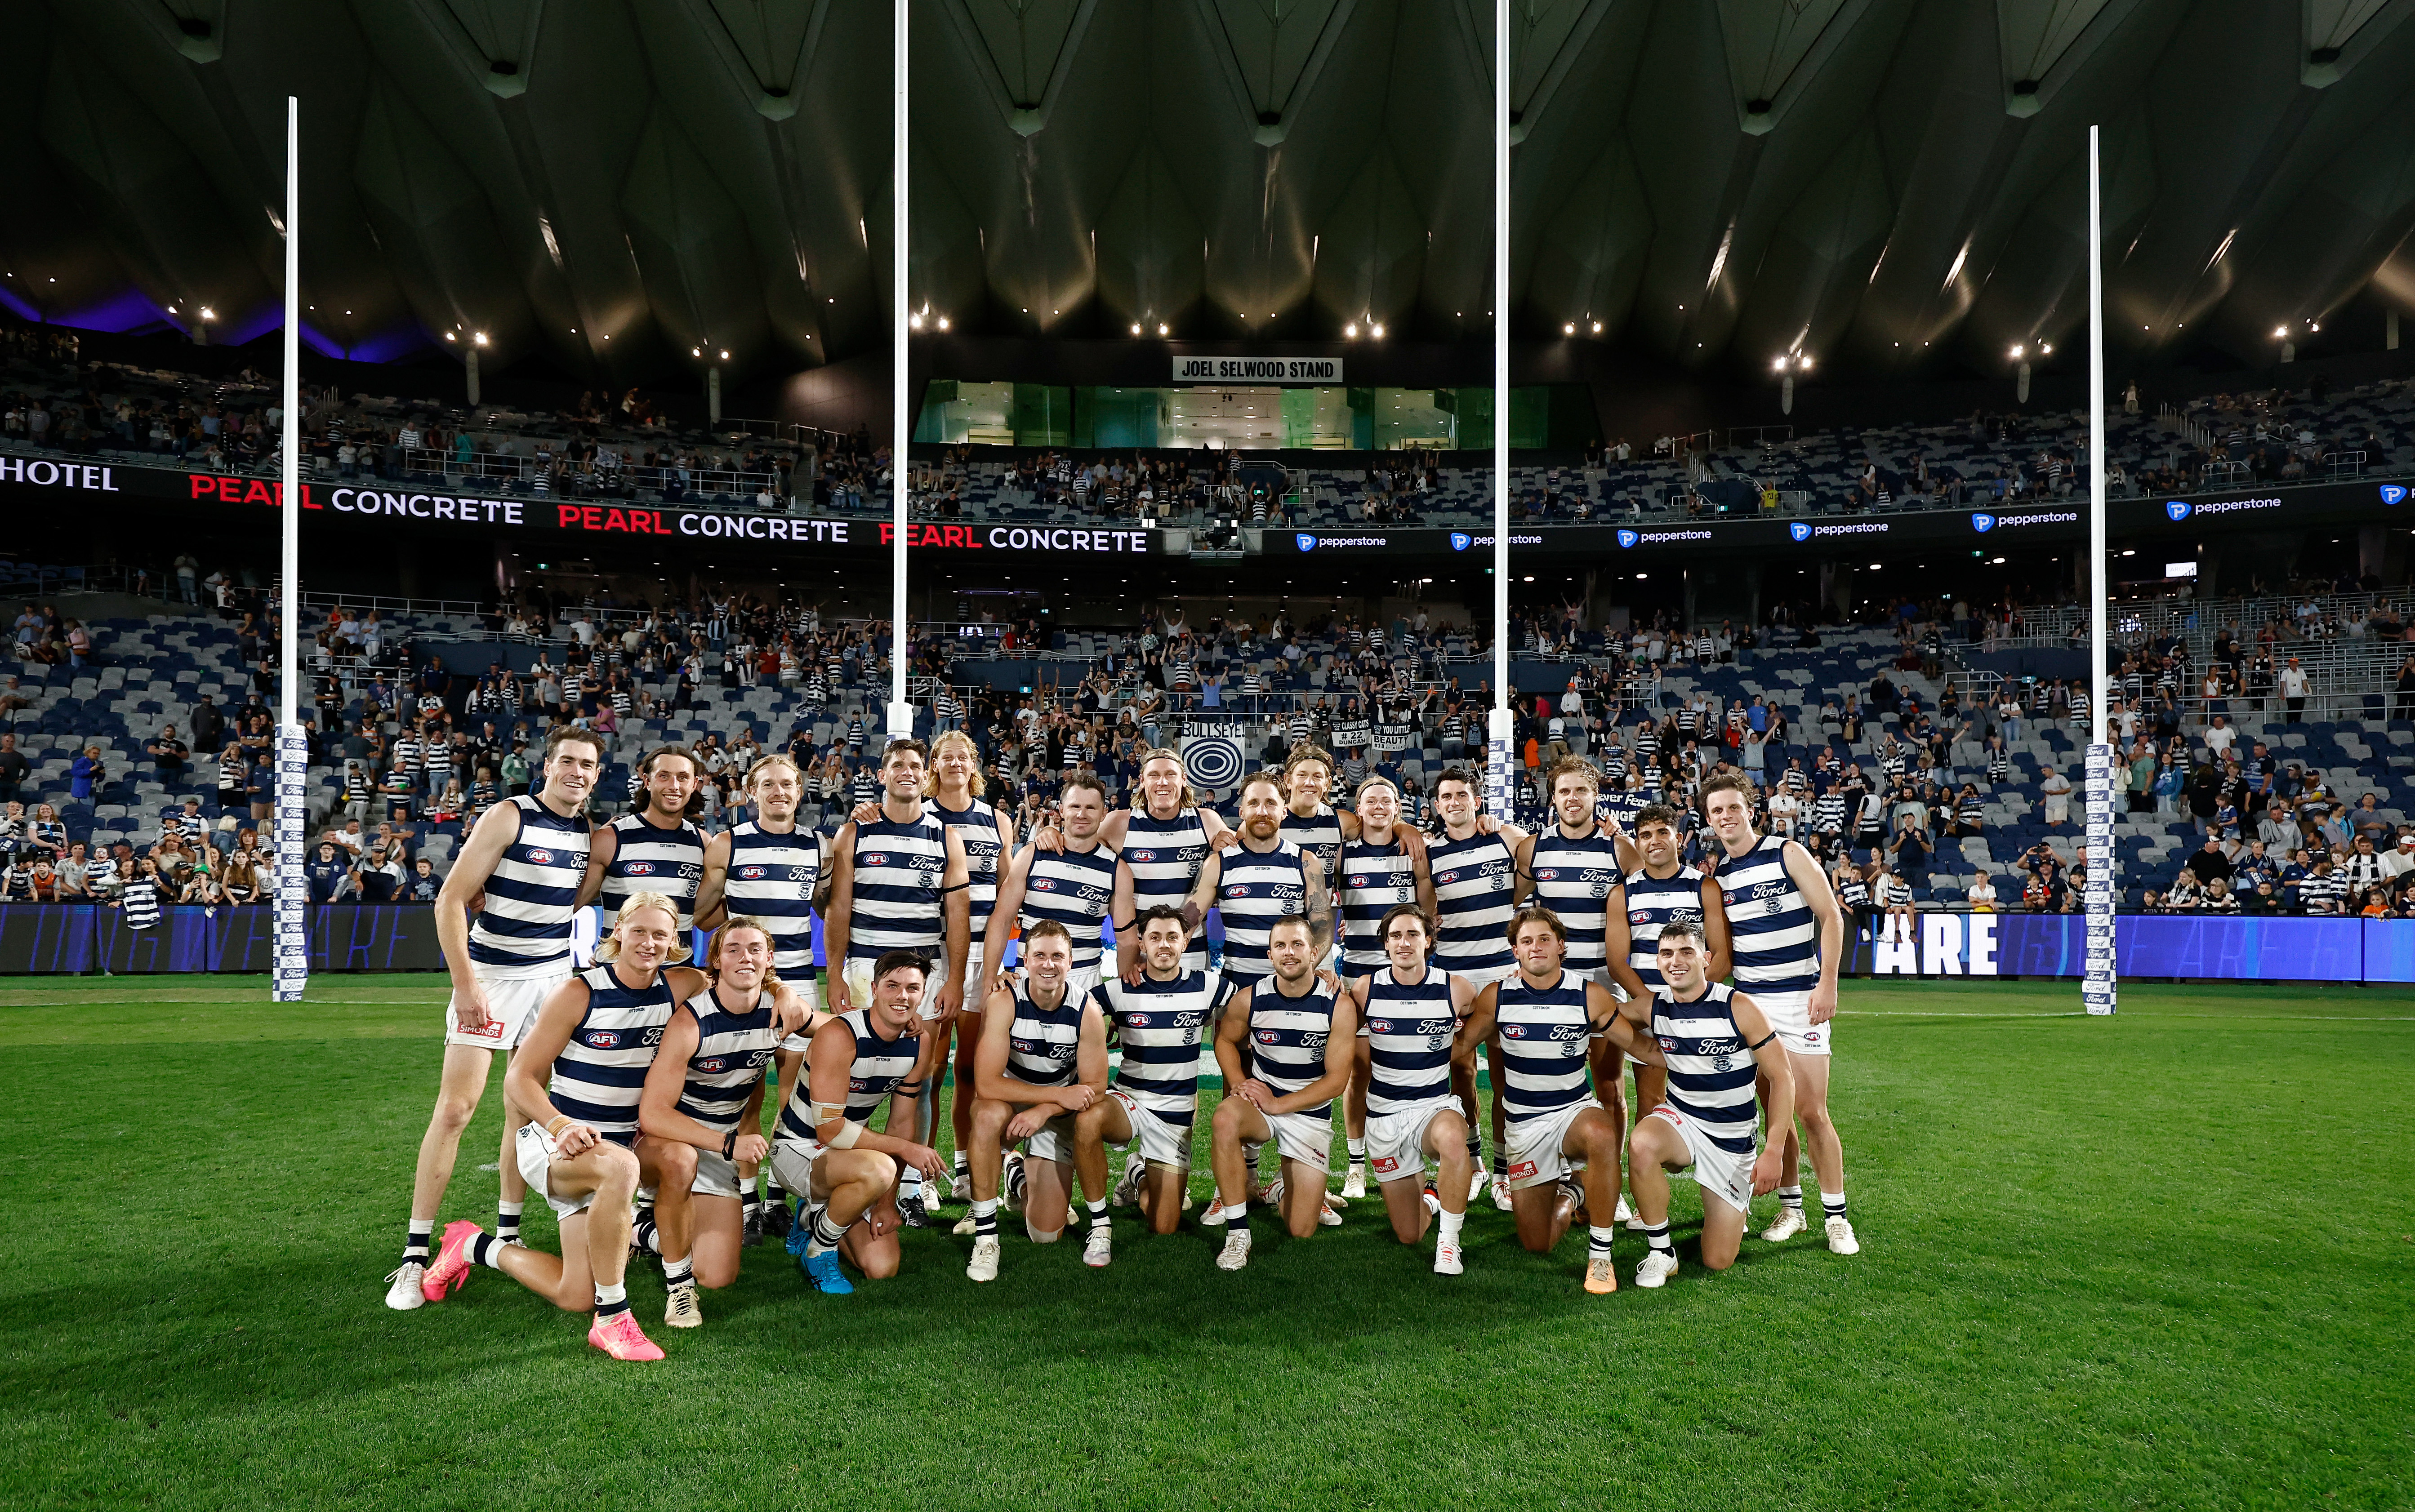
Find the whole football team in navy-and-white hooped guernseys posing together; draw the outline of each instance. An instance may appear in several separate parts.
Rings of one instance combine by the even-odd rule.
[[[1756,1196],[1777,1198],[1763,1241],[1806,1232],[1804,1159],[1826,1246],[1860,1251],[1828,1121],[1845,923],[1818,862],[1756,828],[1744,773],[1703,780],[1698,814],[1645,804],[1620,826],[1570,756],[1526,833],[1461,768],[1430,828],[1381,775],[1335,807],[1335,761],[1309,744],[1249,775],[1227,819],[1159,749],[1130,809],[1077,770],[1017,836],[976,742],[947,732],[891,739],[877,797],[816,836],[787,756],[751,766],[751,819],[722,833],[693,819],[686,746],[650,751],[630,812],[592,824],[604,763],[594,734],[555,729],[541,780],[476,824],[444,882],[444,1060],[386,1307],[500,1270],[592,1314],[606,1355],[659,1360],[633,1256],[659,1263],[671,1328],[700,1326],[698,1292],[770,1239],[819,1295],[894,1278],[908,1227],[952,1227],[966,1278],[995,1280],[1000,1210],[1031,1244],[1080,1222],[1096,1268],[1116,1208],[1183,1229],[1200,1159],[1200,1266],[1222,1270],[1256,1239],[1343,1225],[1372,1186],[1437,1275],[1466,1270],[1468,1208],[1490,1200],[1526,1251],[1582,1227],[1584,1292],[1618,1290],[1613,1241],[1637,1232],[1628,1280],[1649,1290],[1681,1270],[1674,1174],[1703,1193],[1700,1266],[1724,1270]],[[1695,824],[1705,860],[1686,865]],[[587,906],[604,925],[577,969]],[[495,1222],[440,1229],[495,1056]],[[531,1193],[560,1254],[522,1241]]]

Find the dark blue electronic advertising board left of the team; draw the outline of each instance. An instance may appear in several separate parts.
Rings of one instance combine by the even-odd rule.
[[[442,971],[427,903],[309,911],[312,971]],[[159,911],[150,930],[126,927],[92,903],[0,903],[0,973],[273,971],[278,911],[268,906]]]

